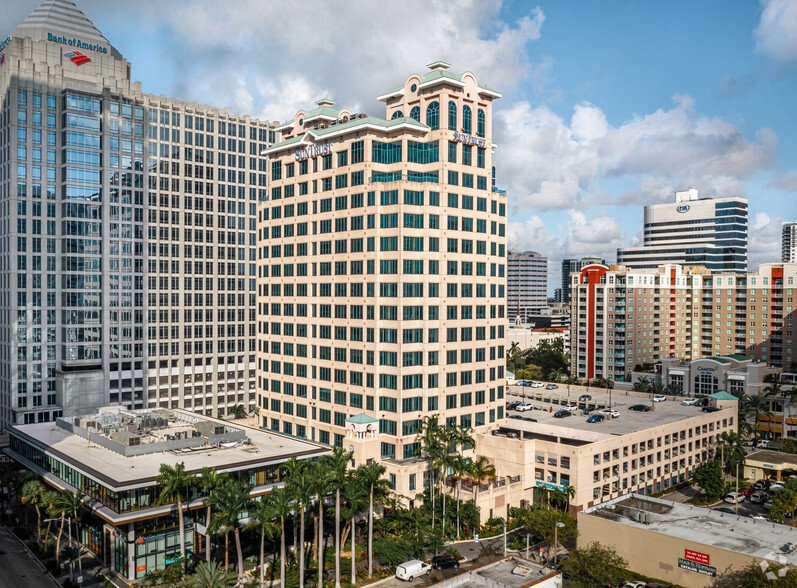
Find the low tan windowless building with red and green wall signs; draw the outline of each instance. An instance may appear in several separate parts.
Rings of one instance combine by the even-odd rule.
[[[579,547],[597,541],[631,570],[678,586],[711,586],[753,563],[797,565],[794,527],[638,494],[581,511],[578,532]]]

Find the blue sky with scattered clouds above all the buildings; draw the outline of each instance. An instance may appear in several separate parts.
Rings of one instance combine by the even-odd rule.
[[[322,96],[383,115],[431,61],[473,71],[504,94],[510,247],[549,257],[551,291],[561,259],[614,261],[678,189],[749,199],[751,265],[797,221],[795,0],[77,4],[145,92],[270,120]],[[6,0],[5,28],[37,5]]]

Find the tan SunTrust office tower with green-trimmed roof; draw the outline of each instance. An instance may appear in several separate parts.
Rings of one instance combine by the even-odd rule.
[[[503,417],[506,195],[492,101],[435,62],[382,96],[330,100],[278,127],[258,207],[261,424],[381,459],[423,488],[421,420]]]

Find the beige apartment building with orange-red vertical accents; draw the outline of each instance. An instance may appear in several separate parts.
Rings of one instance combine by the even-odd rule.
[[[793,263],[763,264],[746,274],[587,266],[571,275],[572,372],[628,380],[634,366],[662,358],[733,354],[788,367],[797,357],[795,278]]]

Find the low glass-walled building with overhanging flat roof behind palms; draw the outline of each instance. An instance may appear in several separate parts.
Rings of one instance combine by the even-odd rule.
[[[58,490],[91,498],[81,516],[80,541],[129,580],[163,569],[180,554],[175,503],[158,504],[161,464],[183,463],[227,472],[249,485],[253,497],[278,484],[280,464],[295,456],[329,453],[318,445],[181,410],[101,410],[53,423],[9,429],[6,454]],[[186,551],[205,535],[204,495],[187,490],[183,504]],[[199,512],[199,517],[195,513]],[[205,539],[207,540],[207,539]],[[198,549],[196,549],[198,551]]]

